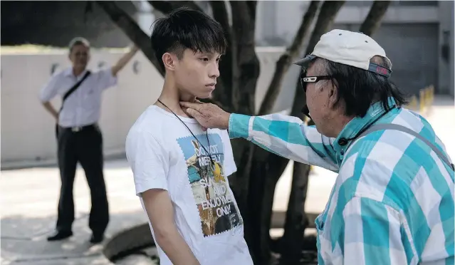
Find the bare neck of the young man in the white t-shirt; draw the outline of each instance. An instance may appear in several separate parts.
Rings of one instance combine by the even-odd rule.
[[[167,108],[160,104],[159,102],[155,103],[155,105],[158,105],[164,110],[169,111],[168,108],[170,108],[177,115],[189,117],[189,115],[187,115],[187,113],[185,113],[184,110],[182,110],[182,107],[180,106],[179,102],[180,101],[194,102],[194,100],[196,100],[196,97],[189,93],[182,92],[177,88],[174,82],[169,80],[169,78],[164,78],[163,89],[161,95],[159,95],[158,100],[164,103],[167,106]]]

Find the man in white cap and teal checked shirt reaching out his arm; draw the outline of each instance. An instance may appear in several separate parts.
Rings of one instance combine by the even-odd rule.
[[[333,30],[296,64],[315,127],[181,104],[206,128],[338,172],[315,221],[319,264],[454,264],[454,165],[427,120],[401,107],[384,49]]]

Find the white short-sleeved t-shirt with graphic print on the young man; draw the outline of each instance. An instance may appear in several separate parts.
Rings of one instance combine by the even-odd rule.
[[[253,264],[227,179],[237,170],[228,133],[204,132],[197,120],[179,118],[199,141],[174,114],[155,105],[140,115],[127,135],[127,160],[142,209],[141,192],[165,189],[177,229],[200,264]],[[149,225],[155,239],[150,221]],[[157,249],[160,264],[172,264],[158,245]]]

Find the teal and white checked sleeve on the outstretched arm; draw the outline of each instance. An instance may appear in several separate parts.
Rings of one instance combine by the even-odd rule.
[[[330,153],[330,139],[296,117],[264,115],[251,117],[231,114],[229,136],[243,137],[281,157],[336,171],[338,166]],[[309,140],[311,139],[311,140]]]

